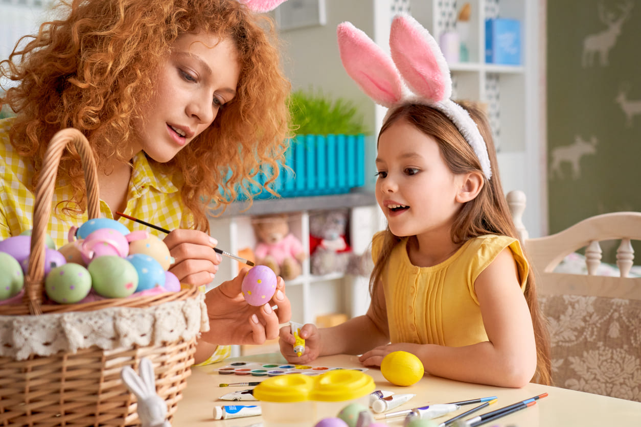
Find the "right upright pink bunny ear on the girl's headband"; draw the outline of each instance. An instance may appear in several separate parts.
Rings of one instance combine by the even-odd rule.
[[[431,102],[451,97],[452,79],[445,57],[428,30],[410,15],[397,15],[392,21],[390,51],[412,92]]]

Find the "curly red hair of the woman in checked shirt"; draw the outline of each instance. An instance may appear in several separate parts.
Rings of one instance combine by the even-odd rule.
[[[198,31],[235,42],[237,95],[196,140],[158,166],[181,186],[194,228],[205,231],[207,206],[229,204],[238,184],[260,170],[273,181],[290,136],[290,84],[271,19],[236,0],[73,0],[58,11],[63,19],[42,24],[0,62],[0,76],[19,82],[0,97],[0,107],[17,115],[10,137],[21,156],[33,159],[33,188],[47,142],[65,127],[83,131],[98,165],[112,157],[129,161],[124,152],[141,106],[153,95],[158,64],[178,36]],[[63,155],[58,180],[78,202],[69,209],[83,211],[83,171],[73,150]]]

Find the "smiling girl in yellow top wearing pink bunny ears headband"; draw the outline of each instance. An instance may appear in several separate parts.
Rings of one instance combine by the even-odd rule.
[[[483,114],[449,99],[447,64],[412,18],[392,24],[394,63],[349,23],[338,37],[347,72],[390,108],[376,158],[376,200],[388,227],[372,241],[367,314],[333,328],[304,325],[301,357],[282,328],[281,352],[291,363],[348,353],[380,366],[385,355],[403,350],[431,375],[521,387],[536,373],[549,383],[535,284]],[[371,58],[381,67],[368,66]]]

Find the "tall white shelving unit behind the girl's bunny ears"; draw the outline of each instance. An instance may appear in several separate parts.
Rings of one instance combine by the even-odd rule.
[[[501,181],[506,193],[523,189],[535,205],[524,218],[533,236],[547,229],[545,212],[545,143],[541,129],[539,9],[536,0],[412,0],[392,1],[430,31],[434,38],[456,30],[460,8],[470,3],[469,61],[450,63],[454,99],[487,104],[498,149]],[[521,24],[520,65],[485,63],[485,20],[517,19]],[[391,19],[391,18],[390,18]],[[388,30],[387,30],[388,31]],[[388,33],[386,35],[388,38]],[[377,40],[381,45],[383,40]]]

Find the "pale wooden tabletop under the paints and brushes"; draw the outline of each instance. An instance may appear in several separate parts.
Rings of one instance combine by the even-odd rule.
[[[215,371],[216,368],[228,365],[235,360],[285,363],[285,359],[283,359],[280,354],[269,353],[227,359],[224,362],[210,366],[193,367],[192,375],[187,379],[187,388],[183,390],[183,400],[178,403],[178,411],[172,421],[174,427],[246,427],[262,421],[260,416],[221,421],[213,420],[212,411],[214,406],[234,404],[260,405],[259,401],[231,402],[218,399],[219,396],[228,392],[250,388],[219,387],[219,383],[249,382],[264,379],[264,377],[256,376],[219,375],[217,371]],[[349,355],[321,357],[310,365],[362,367],[356,356]],[[530,383],[521,389],[506,389],[489,385],[445,380],[444,378],[429,375],[424,376],[422,380],[410,387],[397,387],[385,380],[379,369],[370,368],[365,373],[374,378],[377,389],[390,390],[396,393],[416,394],[415,398],[401,407],[394,408],[394,411],[421,407],[432,403],[447,403],[486,396],[497,396],[498,401],[494,403],[494,405],[483,408],[477,413],[478,415],[547,392],[549,396],[538,400],[533,407],[506,415],[506,417],[485,425],[488,427],[497,425],[518,427],[641,426],[641,403],[635,401],[610,398],[599,396],[598,394],[560,389],[535,383]],[[437,421],[442,422],[474,406],[476,405],[466,405],[458,412],[446,415],[445,417],[437,419]],[[404,417],[388,419],[387,424],[390,426],[402,426],[403,419]],[[313,427],[311,421],[310,427]]]

